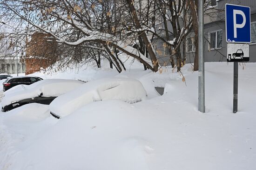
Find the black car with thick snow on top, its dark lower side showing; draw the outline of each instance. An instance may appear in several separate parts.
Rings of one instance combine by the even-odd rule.
[[[27,103],[50,104],[56,97],[81,86],[78,80],[46,79],[31,85],[18,85],[4,92],[2,111]]]

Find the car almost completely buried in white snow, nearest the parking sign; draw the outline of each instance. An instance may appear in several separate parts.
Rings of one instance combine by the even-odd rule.
[[[50,113],[61,118],[93,101],[117,99],[135,103],[146,99],[147,93],[140,81],[130,78],[108,78],[87,82],[51,102]]]

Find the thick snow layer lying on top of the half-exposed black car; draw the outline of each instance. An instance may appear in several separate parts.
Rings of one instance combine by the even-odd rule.
[[[41,93],[42,97],[59,96],[79,87],[83,83],[77,80],[46,79],[31,85],[18,85],[4,92],[2,107],[15,101],[40,96]]]

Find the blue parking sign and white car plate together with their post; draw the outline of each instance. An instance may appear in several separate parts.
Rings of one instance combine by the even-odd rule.
[[[227,62],[234,62],[233,113],[238,110],[238,62],[249,61],[250,26],[250,7],[226,4]]]

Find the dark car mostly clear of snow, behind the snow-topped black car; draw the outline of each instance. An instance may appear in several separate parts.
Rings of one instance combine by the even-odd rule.
[[[3,91],[6,91],[19,84],[30,85],[40,80],[43,80],[43,79],[40,77],[28,77],[28,76],[8,78],[5,82],[3,82]]]

